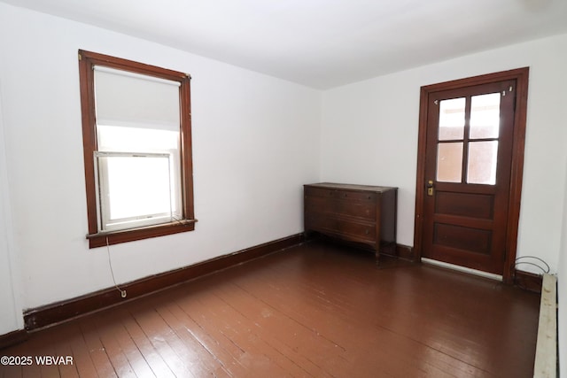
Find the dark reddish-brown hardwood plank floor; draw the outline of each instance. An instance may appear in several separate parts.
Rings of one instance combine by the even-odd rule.
[[[1,377],[531,377],[540,296],[312,242],[36,331]],[[73,364],[38,364],[72,356]],[[56,361],[62,362],[62,361]]]

